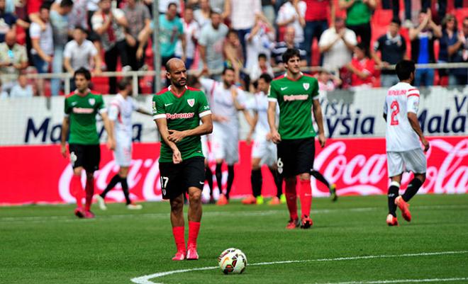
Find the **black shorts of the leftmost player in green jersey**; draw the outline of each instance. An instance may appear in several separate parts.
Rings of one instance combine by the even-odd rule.
[[[68,148],[73,169],[82,166],[89,173],[99,169],[99,162],[101,161],[101,147],[99,147],[99,144],[69,144]]]

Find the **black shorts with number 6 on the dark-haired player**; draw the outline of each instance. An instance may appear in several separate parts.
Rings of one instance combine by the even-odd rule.
[[[284,177],[310,173],[316,145],[313,138],[282,140],[277,144],[278,173]]]

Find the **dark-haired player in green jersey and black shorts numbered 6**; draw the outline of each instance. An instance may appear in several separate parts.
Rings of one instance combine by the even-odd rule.
[[[301,226],[308,229],[311,220],[311,171],[315,157],[311,108],[318,126],[318,141],[325,146],[323,119],[318,102],[318,81],[303,74],[300,69],[299,50],[288,49],[283,54],[286,74],[272,81],[269,89],[268,124],[272,141],[277,143],[278,172],[286,181],[285,195],[290,220],[286,229]],[[275,113],[279,105],[279,127],[275,123]],[[299,176],[299,195],[301,198],[301,220],[297,215],[296,176]]]

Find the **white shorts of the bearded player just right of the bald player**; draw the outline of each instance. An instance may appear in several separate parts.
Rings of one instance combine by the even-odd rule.
[[[229,131],[224,127],[213,125],[211,151],[215,159],[223,159],[228,165],[237,163],[239,161],[238,130]]]

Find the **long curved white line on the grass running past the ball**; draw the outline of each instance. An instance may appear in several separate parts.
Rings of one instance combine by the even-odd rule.
[[[343,256],[333,259],[306,259],[301,261],[271,261],[271,262],[260,262],[260,263],[250,263],[249,266],[268,266],[272,264],[284,264],[284,263],[303,263],[303,262],[316,262],[316,261],[352,261],[357,259],[386,259],[386,258],[396,258],[396,257],[408,257],[408,256],[440,256],[444,254],[467,254],[468,251],[438,251],[438,252],[422,252],[418,254],[382,254],[382,255],[375,255],[375,256]],[[136,278],[130,279],[133,283],[137,284],[163,284],[163,283],[154,283],[150,279],[152,278],[160,278],[162,276],[168,276],[177,273],[185,273],[191,271],[207,271],[219,268],[218,266],[207,266],[201,268],[189,268],[189,269],[180,269],[177,271],[165,271],[154,273],[150,275],[140,276]],[[450,278],[447,278],[450,279]],[[396,281],[396,280],[395,280]],[[423,281],[419,281],[423,282]],[[350,282],[353,284],[354,282]],[[356,283],[381,283],[381,282],[356,282]],[[382,282],[384,283],[384,282]],[[389,282],[393,283],[393,282]],[[395,282],[398,283],[398,282]],[[334,283],[334,284],[347,284],[347,283]]]

